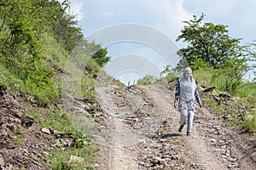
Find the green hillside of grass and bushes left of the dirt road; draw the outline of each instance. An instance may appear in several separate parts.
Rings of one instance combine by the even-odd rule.
[[[73,72],[67,69],[67,61],[72,60],[73,68],[82,71],[80,97],[96,99],[93,91],[96,77],[109,57],[106,49],[84,40],[66,8],[68,4],[55,0],[0,2],[0,85],[7,88],[8,94],[26,99],[30,105],[22,107],[42,127],[73,133],[73,147],[56,148],[43,159],[49,168],[92,169],[97,147],[87,133],[70,121],[61,89],[63,79],[72,80]],[[82,50],[82,46],[87,50]],[[102,53],[97,54],[99,50]],[[79,62],[81,59],[86,62]],[[77,83],[70,85],[73,89],[78,86]],[[68,163],[70,156],[82,157],[84,161]]]

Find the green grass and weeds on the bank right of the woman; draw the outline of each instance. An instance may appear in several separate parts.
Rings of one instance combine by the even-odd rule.
[[[216,87],[215,95],[224,93],[224,84],[226,80],[222,75],[217,75],[212,68],[205,68],[194,72],[195,79],[200,82],[199,86],[204,85],[207,88]],[[218,115],[230,115],[230,123],[239,128],[247,128],[252,134],[256,133],[256,83],[242,82],[232,95],[236,105],[218,105],[212,97],[201,93],[204,105]],[[255,138],[256,139],[256,138]],[[255,141],[256,143],[256,141]]]

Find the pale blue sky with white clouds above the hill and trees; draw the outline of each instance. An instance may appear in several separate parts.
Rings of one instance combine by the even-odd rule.
[[[169,55],[185,46],[176,39],[183,21],[191,20],[193,15],[206,14],[205,22],[229,26],[230,37],[242,38],[243,44],[253,42],[256,40],[255,8],[254,0],[71,0],[70,13],[79,20],[84,37],[108,48],[108,55],[116,63],[107,65],[106,71],[113,71],[113,65],[132,65],[131,71],[127,68],[113,71],[112,76],[123,75],[123,79],[127,79],[125,74],[136,71],[140,77],[145,76],[148,71],[137,70],[143,63],[148,63],[145,68],[148,67],[149,72],[162,71],[165,65],[156,64],[154,56],[159,56],[160,63],[173,64],[177,56]],[[163,39],[166,41],[160,42]],[[166,51],[166,44],[171,51]],[[166,58],[169,60],[165,61]]]

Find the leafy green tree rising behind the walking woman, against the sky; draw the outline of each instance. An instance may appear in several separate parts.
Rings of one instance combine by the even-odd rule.
[[[247,46],[241,46],[241,38],[229,36],[228,26],[203,23],[205,15],[184,21],[177,41],[187,42],[186,48],[178,50],[179,67],[184,63],[196,70],[200,66],[212,66],[226,77],[225,91],[234,93],[248,71]]]

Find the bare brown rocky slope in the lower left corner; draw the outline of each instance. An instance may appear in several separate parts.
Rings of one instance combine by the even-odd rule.
[[[44,157],[71,144],[72,136],[64,138],[65,133],[41,127],[27,116],[24,108],[31,104],[25,98],[6,94],[3,87],[0,94],[0,169],[48,169]]]

